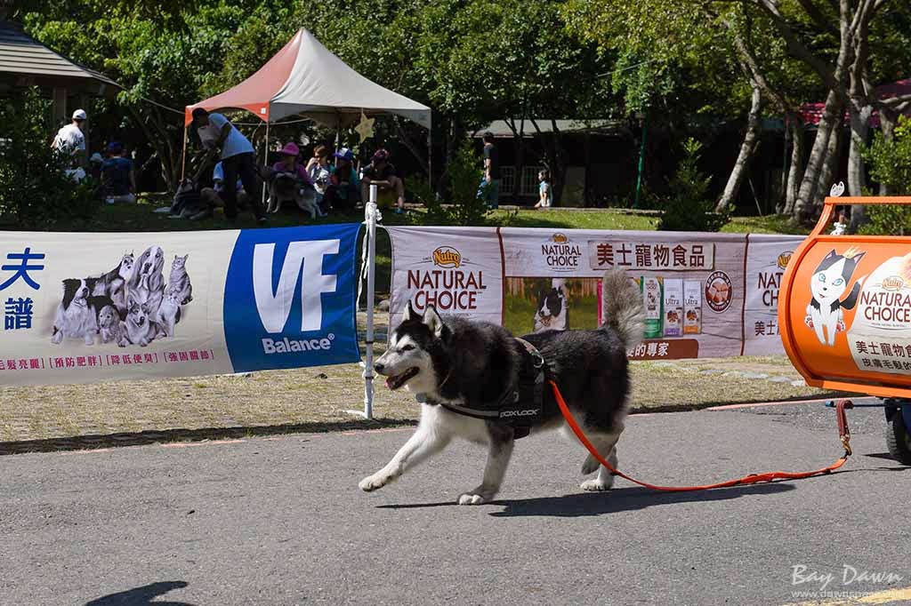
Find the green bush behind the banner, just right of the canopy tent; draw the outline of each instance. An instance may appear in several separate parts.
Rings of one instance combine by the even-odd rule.
[[[429,225],[476,226],[485,225],[491,215],[484,193],[478,189],[481,182],[481,158],[475,147],[466,141],[446,171],[449,186],[449,200],[444,207],[436,197],[433,187],[426,181],[409,180],[408,188],[415,201],[424,205],[427,212],[425,221]]]

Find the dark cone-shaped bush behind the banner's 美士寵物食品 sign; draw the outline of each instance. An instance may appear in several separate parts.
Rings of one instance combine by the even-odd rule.
[[[702,145],[689,138],[683,144],[683,159],[670,180],[670,199],[664,206],[658,228],[663,231],[718,231],[731,220],[730,209],[718,214],[708,197],[711,177],[698,167]]]

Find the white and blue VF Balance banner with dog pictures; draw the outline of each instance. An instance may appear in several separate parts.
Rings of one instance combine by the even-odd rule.
[[[359,225],[0,233],[0,382],[87,383],[360,359]]]

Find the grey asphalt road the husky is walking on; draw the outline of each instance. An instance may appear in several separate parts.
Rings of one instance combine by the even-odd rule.
[[[844,472],[701,493],[580,493],[581,447],[535,436],[481,507],[453,504],[483,467],[468,445],[357,490],[408,430],[0,457],[0,603],[746,606],[820,591],[795,566],[909,603],[911,470],[883,455],[881,409],[850,420]],[[671,484],[821,467],[839,448],[814,405],[636,416],[619,454]],[[844,585],[844,565],[901,578]]]

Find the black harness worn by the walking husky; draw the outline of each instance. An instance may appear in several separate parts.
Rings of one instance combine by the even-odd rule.
[[[516,340],[525,348],[516,383],[507,387],[496,401],[496,409],[471,409],[449,402],[436,402],[443,408],[473,419],[511,425],[514,438],[524,438],[544,413],[544,357],[524,338]]]

